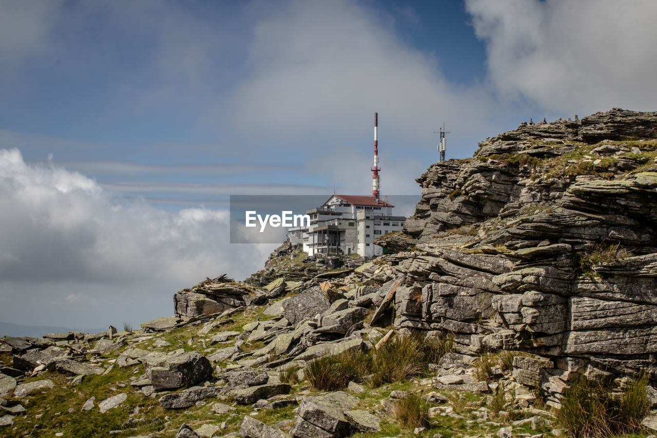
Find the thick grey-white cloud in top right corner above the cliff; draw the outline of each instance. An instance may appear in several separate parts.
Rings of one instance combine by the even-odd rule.
[[[589,114],[654,110],[657,2],[466,0],[504,99]]]

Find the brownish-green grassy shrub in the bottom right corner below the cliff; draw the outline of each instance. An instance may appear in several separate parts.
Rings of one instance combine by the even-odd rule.
[[[602,438],[633,433],[649,412],[647,377],[639,376],[614,397],[609,385],[585,377],[576,379],[561,400],[556,422],[573,437]]]

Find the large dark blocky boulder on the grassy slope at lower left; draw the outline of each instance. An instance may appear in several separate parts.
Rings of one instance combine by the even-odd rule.
[[[212,376],[210,360],[198,351],[174,354],[147,366],[147,377],[155,391],[192,386]]]

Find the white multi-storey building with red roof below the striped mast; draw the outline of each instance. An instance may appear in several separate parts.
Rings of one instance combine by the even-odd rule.
[[[390,205],[369,196],[332,195],[320,207],[306,210],[310,225],[288,229],[291,243],[302,243],[309,255],[318,253],[380,256],[382,247],[373,241],[401,230],[406,220],[393,216]]]

